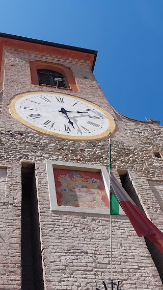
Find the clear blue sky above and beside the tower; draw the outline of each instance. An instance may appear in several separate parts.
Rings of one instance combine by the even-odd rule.
[[[162,0],[6,0],[0,32],[97,50],[94,75],[108,102],[163,125],[162,15]]]

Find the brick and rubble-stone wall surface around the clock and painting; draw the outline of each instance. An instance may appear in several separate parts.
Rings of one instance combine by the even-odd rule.
[[[0,289],[21,289],[21,166],[28,162],[35,164],[44,288],[95,289],[103,280],[110,280],[109,216],[51,212],[45,161],[108,167],[108,140],[68,141],[37,133],[13,119],[9,100],[26,91],[57,91],[79,96],[111,113],[116,122],[112,134],[113,171],[117,176],[129,173],[145,213],[162,231],[163,129],[158,122],[132,120],[116,112],[86,61],[7,46],[4,59],[0,95]],[[31,60],[70,67],[80,92],[32,85]],[[159,152],[161,158],[153,152]],[[121,281],[123,289],[163,289],[144,238],[137,236],[126,216],[113,218],[113,276]]]

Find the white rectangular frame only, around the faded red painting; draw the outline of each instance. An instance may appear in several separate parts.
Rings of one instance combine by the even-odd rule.
[[[72,207],[62,206],[57,204],[57,194],[55,186],[55,178],[53,176],[53,168],[79,170],[88,172],[99,172],[104,183],[106,194],[109,198],[109,185],[108,185],[108,172],[104,166],[86,165],[72,162],[57,162],[46,160],[47,180],[50,198],[50,210],[51,211],[73,211],[73,212],[86,212],[86,213],[100,213],[110,214],[109,209],[98,208],[84,208],[84,207]]]

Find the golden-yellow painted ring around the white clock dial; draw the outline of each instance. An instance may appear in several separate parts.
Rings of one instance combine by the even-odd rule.
[[[39,130],[38,130],[37,126],[35,126],[33,124],[30,124],[29,122],[24,120],[22,117],[20,117],[19,114],[16,112],[16,109],[15,109],[15,104],[16,104],[16,102],[19,99],[21,99],[25,95],[36,94],[36,93],[51,93],[51,94],[57,93],[57,94],[60,94],[60,95],[68,95],[68,96],[71,96],[72,98],[75,98],[76,100],[84,101],[84,102],[86,102],[86,103],[88,103],[90,105],[93,105],[95,108],[100,110],[108,118],[110,126],[108,127],[107,130],[105,130],[101,134],[94,135],[94,136],[84,136],[84,137],[82,137],[82,136],[78,137],[78,136],[63,135],[63,134],[60,134],[60,133],[49,132],[48,130],[45,130],[45,129],[42,129],[42,128],[39,128]],[[10,114],[12,115],[12,117],[14,119],[16,119],[18,122],[20,122],[21,124],[25,125],[26,127],[35,130],[38,133],[43,133],[45,135],[58,137],[58,138],[63,138],[63,139],[68,139],[68,140],[98,140],[98,139],[102,139],[102,138],[107,137],[108,134],[109,133],[113,133],[115,128],[116,128],[116,123],[115,123],[112,115],[110,113],[108,113],[107,111],[105,111],[104,109],[102,109],[100,106],[98,106],[98,105],[96,105],[96,104],[94,104],[94,103],[92,103],[90,101],[87,101],[85,99],[79,98],[78,96],[70,95],[70,94],[66,94],[66,93],[60,93],[60,92],[53,92],[53,91],[28,91],[28,92],[24,92],[24,93],[20,93],[20,94],[14,95],[9,101],[9,111],[10,111]]]

